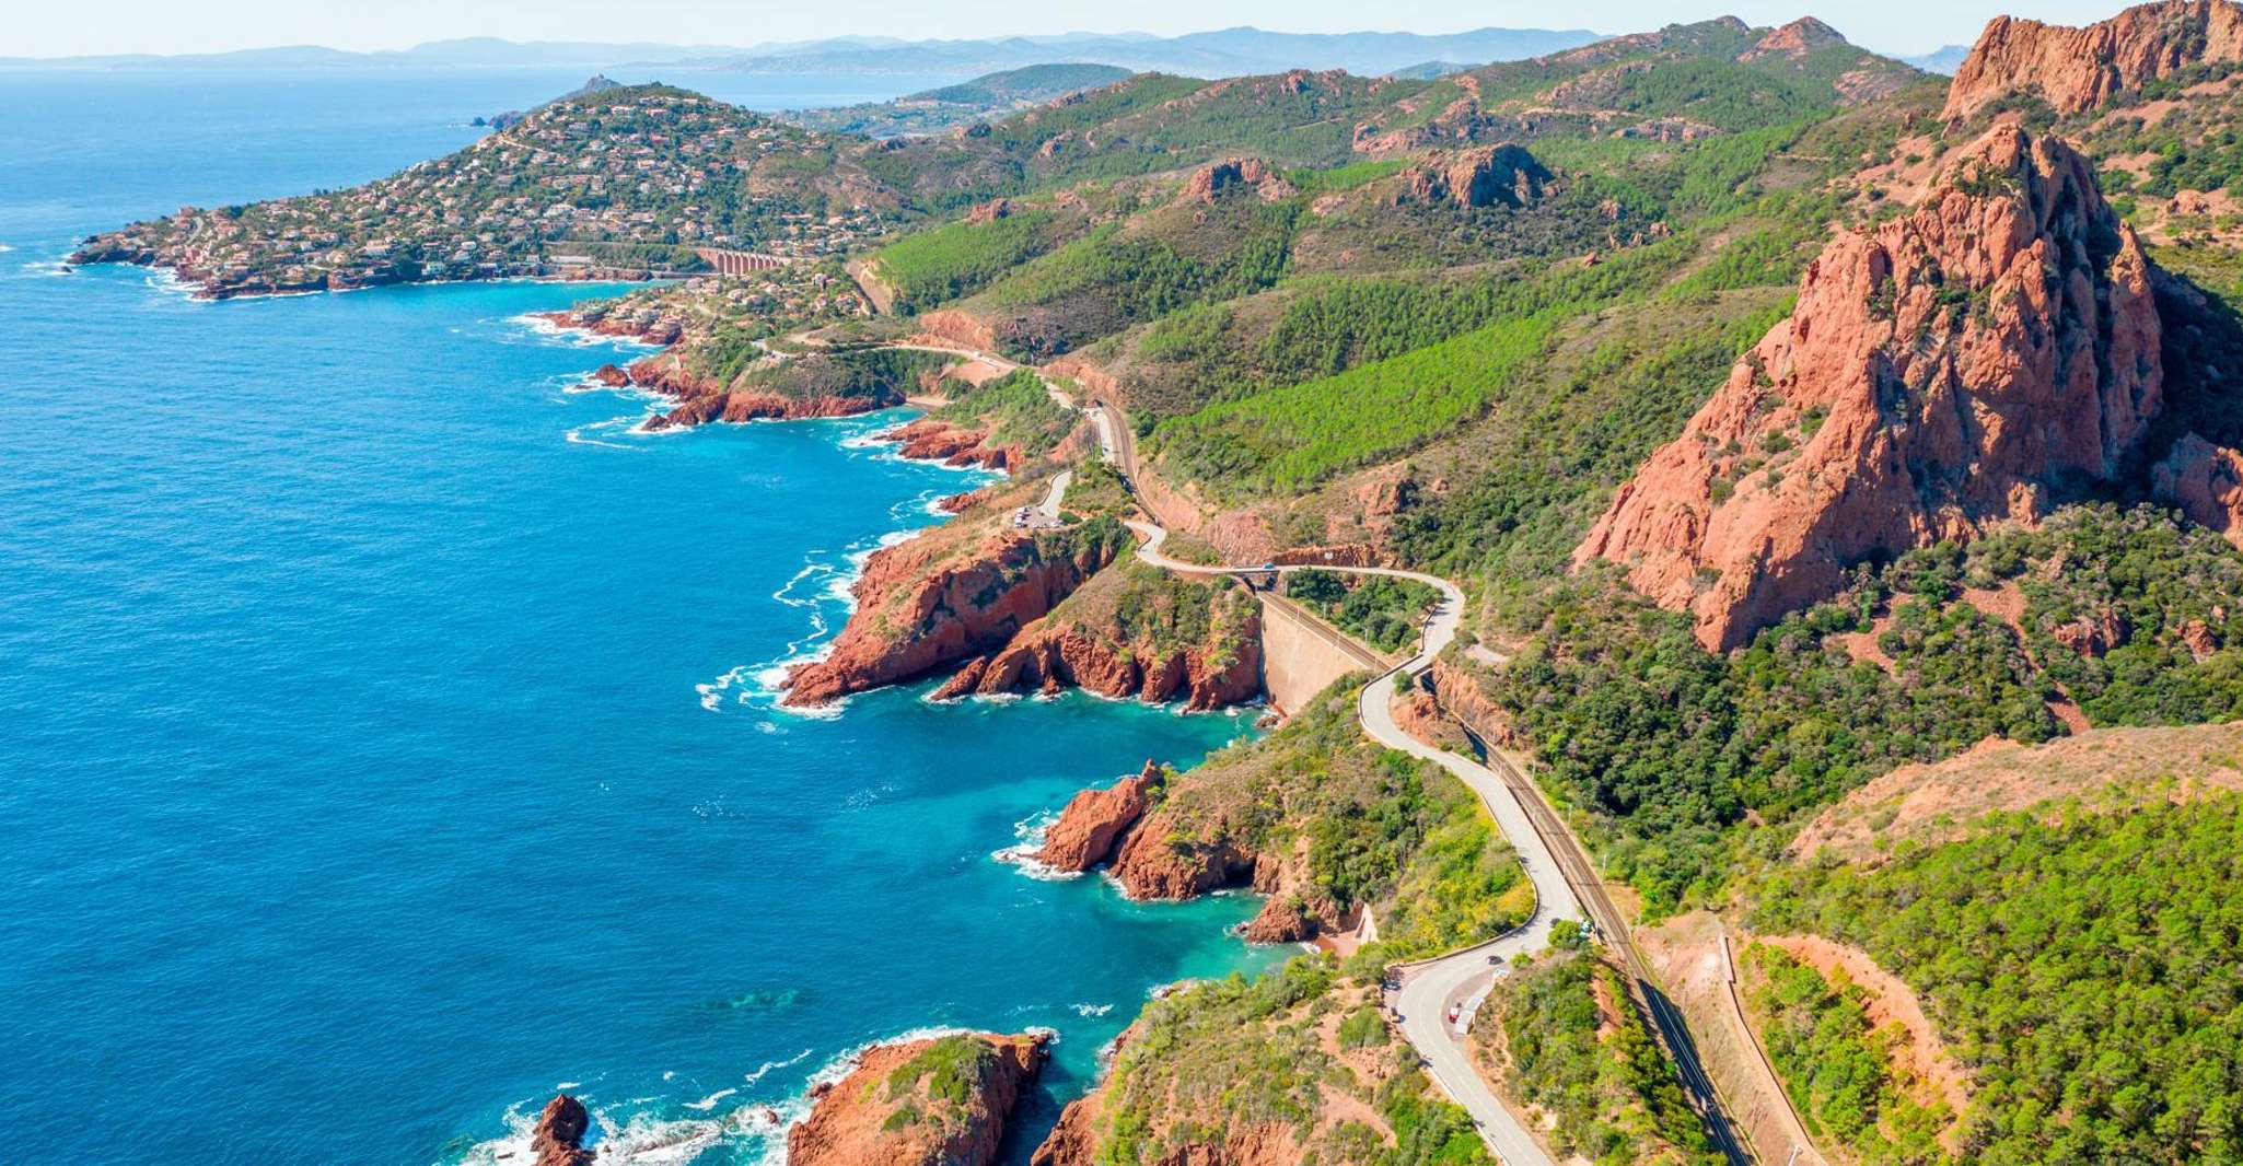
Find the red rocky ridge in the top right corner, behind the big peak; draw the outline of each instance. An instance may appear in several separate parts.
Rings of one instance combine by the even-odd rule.
[[[1956,67],[1942,117],[1965,119],[2014,92],[2077,114],[2144,81],[2225,61],[2243,61],[2243,7],[2232,0],[2138,4],[2084,29],[1996,16]]]

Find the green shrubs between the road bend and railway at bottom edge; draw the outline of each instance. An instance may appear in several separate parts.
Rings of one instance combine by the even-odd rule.
[[[1557,1117],[1559,1153],[1599,1166],[1723,1162],[1619,973],[1595,955],[1557,951],[1496,980],[1471,1034],[1498,1049],[1514,1099]]]

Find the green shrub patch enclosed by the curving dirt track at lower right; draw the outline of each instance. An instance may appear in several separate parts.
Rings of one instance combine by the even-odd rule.
[[[1759,980],[1752,1009],[1761,1020],[1767,1058],[1783,1076],[1808,1132],[1835,1137],[1871,1166],[1945,1162],[1940,1132],[1954,1119],[1938,1096],[1913,1096],[1895,1070],[1898,1027],[1868,1020],[1862,989],[1824,975],[1779,948],[1745,948],[1745,969]]]

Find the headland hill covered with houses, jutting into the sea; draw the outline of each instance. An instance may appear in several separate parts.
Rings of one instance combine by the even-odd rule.
[[[895,197],[837,141],[666,85],[538,108],[455,155],[350,191],[179,209],[72,262],[168,267],[204,296],[384,283],[700,271],[698,249],[785,260],[875,231]]]

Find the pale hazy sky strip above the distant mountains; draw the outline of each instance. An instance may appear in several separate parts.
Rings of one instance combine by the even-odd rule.
[[[662,40],[749,45],[814,36],[996,36],[1052,31],[1202,31],[1258,25],[1285,31],[1460,31],[1586,27],[1640,31],[1736,13],[1779,25],[1812,13],[1859,45],[1927,52],[1969,43],[2010,11],[2077,25],[2115,0],[22,0],[0,20],[0,56],[218,52],[265,45],[395,49],[451,36],[514,40]]]

